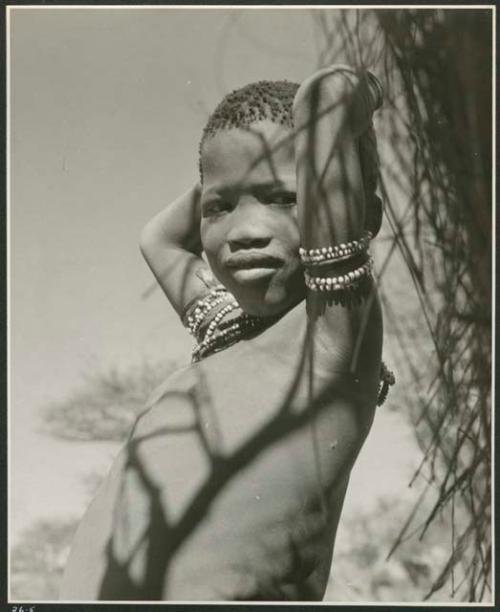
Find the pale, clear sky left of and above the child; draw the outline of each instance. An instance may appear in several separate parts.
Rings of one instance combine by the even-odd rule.
[[[141,228],[197,179],[199,137],[220,98],[310,75],[318,32],[308,10],[291,9],[17,8],[9,21],[17,533],[73,511],[76,475],[115,452],[43,436],[44,407],[94,371],[189,359],[187,332],[150,290]]]

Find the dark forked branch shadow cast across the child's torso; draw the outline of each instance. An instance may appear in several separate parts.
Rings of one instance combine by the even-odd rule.
[[[306,339],[309,342],[309,338]],[[174,521],[168,517],[168,510],[165,507],[165,491],[161,491],[153,482],[146,466],[143,464],[139,449],[141,444],[150,440],[152,437],[163,438],[164,444],[168,445],[168,437],[178,434],[179,429],[169,427],[158,427],[147,436],[131,436],[127,445],[127,461],[123,479],[127,474],[133,473],[140,480],[143,491],[148,497],[149,516],[147,529],[141,541],[136,544],[124,559],[119,559],[115,552],[113,537],[109,540],[106,550],[107,568],[99,589],[98,599],[100,600],[165,600],[169,596],[169,572],[175,563],[176,554],[184,543],[190,538],[197,527],[207,517],[211,506],[216,501],[224,488],[231,482],[239,472],[250,466],[266,449],[270,449],[287,436],[293,434],[299,428],[311,423],[330,403],[333,383],[328,384],[318,393],[314,402],[308,406],[307,410],[294,411],[293,404],[297,392],[299,381],[303,376],[308,375],[305,355],[305,346],[302,350],[302,359],[298,367],[297,376],[291,385],[282,405],[278,406],[273,416],[253,434],[251,434],[234,452],[229,456],[222,455],[217,447],[206,439],[203,433],[203,425],[200,421],[201,408],[197,392],[186,394],[166,393],[163,397],[168,402],[169,397],[176,395],[177,399],[183,395],[183,399],[191,406],[192,414],[195,417],[195,424],[186,427],[186,433],[196,432],[198,441],[209,463],[210,470],[208,477],[197,488],[191,497],[187,507],[181,516]],[[198,380],[198,385],[203,387],[203,380]],[[202,393],[205,391],[202,389]],[[360,424],[360,427],[362,425]],[[323,491],[318,491],[318,496],[329,495],[330,483]],[[168,491],[167,491],[168,493]],[[117,508],[120,508],[123,501],[118,498]],[[312,566],[304,567],[301,565],[300,554],[294,549],[297,544],[290,543],[290,551],[295,554],[292,566],[289,568],[290,576],[296,578],[294,582],[294,598],[306,600],[312,595],[308,591],[306,582],[307,576],[314,569]],[[145,551],[145,552],[141,552]],[[137,555],[144,554],[141,563],[144,569],[144,578],[137,580],[132,576],[131,567],[137,561]],[[295,572],[295,574],[294,574]],[[267,592],[260,592],[252,595],[252,599],[281,599],[283,593],[276,591],[273,596],[273,589]],[[290,599],[287,597],[286,599]]]

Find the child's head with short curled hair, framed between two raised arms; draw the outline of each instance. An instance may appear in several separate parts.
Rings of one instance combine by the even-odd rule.
[[[292,115],[298,87],[259,81],[231,92],[200,142],[203,247],[250,314],[277,314],[304,295]],[[374,192],[376,149],[360,143],[360,161]]]

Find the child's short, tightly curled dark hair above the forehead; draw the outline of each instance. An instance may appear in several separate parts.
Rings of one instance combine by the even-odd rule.
[[[201,152],[212,136],[231,128],[248,128],[257,121],[269,120],[293,129],[292,106],[298,83],[257,81],[228,93],[208,118],[199,145],[198,165],[203,183]],[[371,125],[358,141],[359,161],[367,200],[375,195],[379,175],[377,140]]]

